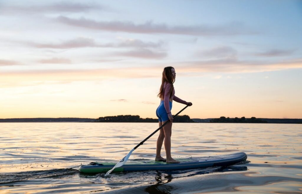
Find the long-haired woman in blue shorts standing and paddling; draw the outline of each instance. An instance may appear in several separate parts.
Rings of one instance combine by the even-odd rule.
[[[156,143],[156,157],[155,161],[165,161],[167,163],[179,163],[171,157],[171,134],[172,134],[172,101],[176,101],[185,105],[191,106],[191,102],[186,102],[176,97],[173,83],[175,81],[175,69],[173,67],[165,67],[162,72],[162,85],[160,86],[159,94],[157,95],[161,101],[159,107],[156,109],[156,116],[159,120],[159,126],[162,126],[167,120],[170,120],[162,129],[160,129],[159,137]],[[165,139],[166,157],[162,158],[160,150],[162,149],[162,142]]]

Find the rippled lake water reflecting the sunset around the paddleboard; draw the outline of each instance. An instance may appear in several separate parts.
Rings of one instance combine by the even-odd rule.
[[[92,161],[120,160],[157,128],[156,123],[0,123],[0,193],[302,192],[302,124],[173,124],[172,157],[248,155],[248,162],[231,167],[108,177],[76,170]],[[157,137],[130,160],[153,159]]]

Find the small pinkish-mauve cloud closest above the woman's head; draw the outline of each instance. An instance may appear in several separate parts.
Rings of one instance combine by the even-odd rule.
[[[136,57],[136,58],[147,58],[147,59],[162,59],[167,56],[166,52],[154,52],[149,49],[137,49],[127,52],[117,52],[116,56]]]

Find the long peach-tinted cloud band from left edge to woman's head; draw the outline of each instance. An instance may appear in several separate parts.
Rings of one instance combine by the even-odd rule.
[[[52,66],[50,66],[52,67]],[[68,66],[69,67],[69,66]],[[31,69],[1,70],[0,88],[27,86],[27,83],[71,83],[75,81],[103,81],[107,79],[135,79],[160,77],[162,67],[120,67],[100,69]],[[26,83],[26,85],[24,85]],[[123,102],[125,99],[119,99]],[[125,101],[124,101],[125,102]]]

